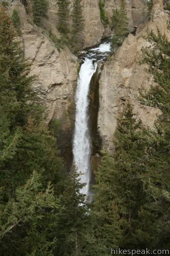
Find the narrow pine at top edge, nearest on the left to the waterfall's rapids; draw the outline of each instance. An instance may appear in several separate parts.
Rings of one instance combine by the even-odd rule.
[[[74,0],[72,10],[72,46],[76,50],[79,49],[78,43],[82,44],[82,30],[83,30],[83,6],[81,0]],[[77,46],[77,47],[76,47]],[[82,45],[81,45],[82,46]]]

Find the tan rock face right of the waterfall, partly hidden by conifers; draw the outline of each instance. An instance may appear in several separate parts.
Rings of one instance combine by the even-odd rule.
[[[162,1],[155,0],[152,10],[152,20],[137,33],[129,34],[123,45],[109,62],[105,64],[100,78],[100,108],[98,112],[98,127],[103,139],[103,146],[113,149],[113,133],[116,129],[116,117],[129,98],[134,111],[144,124],[153,126],[154,120],[161,112],[159,109],[143,106],[137,100],[139,88],[149,88],[153,84],[152,75],[145,72],[146,65],[140,66],[137,61],[141,57],[141,48],[148,42],[142,37],[146,29],[157,32],[157,26],[166,33],[167,16],[163,12]]]

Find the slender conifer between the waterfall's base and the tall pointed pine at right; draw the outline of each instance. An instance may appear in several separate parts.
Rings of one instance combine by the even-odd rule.
[[[112,191],[113,157],[104,154],[96,174],[96,194],[92,213],[96,244],[100,245],[98,255],[107,256],[111,248],[118,248],[122,242],[121,218]],[[109,245],[109,246],[108,246]]]

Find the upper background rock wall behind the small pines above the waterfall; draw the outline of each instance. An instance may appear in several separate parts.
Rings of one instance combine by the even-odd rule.
[[[21,4],[25,0],[7,0],[9,6],[16,6],[16,4]],[[121,0],[103,0],[105,2],[105,12],[111,21],[113,14],[113,9],[120,8]],[[3,2],[3,0],[0,0]],[[28,9],[30,8],[31,1],[26,0],[28,3]],[[60,37],[59,32],[56,29],[58,19],[57,19],[57,1],[48,0],[50,4],[50,9],[48,11],[48,19],[43,19],[42,24],[46,30],[52,28],[57,37]],[[70,12],[72,10],[73,1],[70,1]],[[109,25],[104,26],[100,20],[100,9],[99,0],[82,0],[83,5],[83,19],[84,19],[84,30],[82,38],[84,44],[82,48],[91,47],[100,43],[101,39],[111,35],[111,28]],[[129,32],[134,30],[134,25],[139,25],[144,22],[144,6],[146,5],[146,0],[126,0],[127,17],[129,19]],[[29,13],[31,8],[29,9]],[[31,15],[29,14],[29,18]],[[71,25],[71,19],[70,19]],[[81,47],[81,45],[80,45]]]

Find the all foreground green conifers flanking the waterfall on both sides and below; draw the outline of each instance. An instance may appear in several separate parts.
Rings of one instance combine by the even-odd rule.
[[[0,255],[107,256],[111,247],[170,250],[166,36],[149,32],[151,45],[142,49],[141,60],[156,82],[140,92],[141,102],[162,114],[150,130],[126,103],[114,134],[115,151],[103,152],[90,205],[80,193],[76,168],[66,172],[52,125],[50,130],[44,108],[36,103],[36,77],[30,76],[15,24],[0,9]]]

